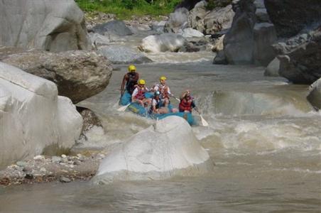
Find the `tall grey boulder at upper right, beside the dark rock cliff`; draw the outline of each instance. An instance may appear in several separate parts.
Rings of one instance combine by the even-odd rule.
[[[256,6],[261,6],[260,2],[234,1],[232,27],[224,37],[224,55],[229,64],[268,65],[276,56],[271,48],[277,39],[276,31],[273,24],[258,18]]]

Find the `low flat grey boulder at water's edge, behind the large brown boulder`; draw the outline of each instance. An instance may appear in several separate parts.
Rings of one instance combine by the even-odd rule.
[[[99,53],[115,64],[141,64],[153,62],[143,53],[123,45],[109,45],[99,48]]]

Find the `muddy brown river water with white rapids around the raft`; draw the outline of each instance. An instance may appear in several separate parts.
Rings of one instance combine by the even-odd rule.
[[[192,90],[210,123],[192,130],[214,173],[1,187],[0,212],[321,212],[321,114],[306,101],[307,86],[264,77],[263,67],[212,65],[212,53],[148,56],[157,62],[137,65],[148,85],[165,75],[176,96]],[[126,66],[115,67],[107,89],[81,103],[101,116],[105,133],[93,129],[80,149],[108,149],[153,124],[116,111]]]

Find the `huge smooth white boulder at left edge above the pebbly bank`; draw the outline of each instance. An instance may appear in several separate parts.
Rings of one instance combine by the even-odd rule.
[[[0,62],[0,168],[44,151],[60,153],[80,136],[82,117],[53,82]]]

